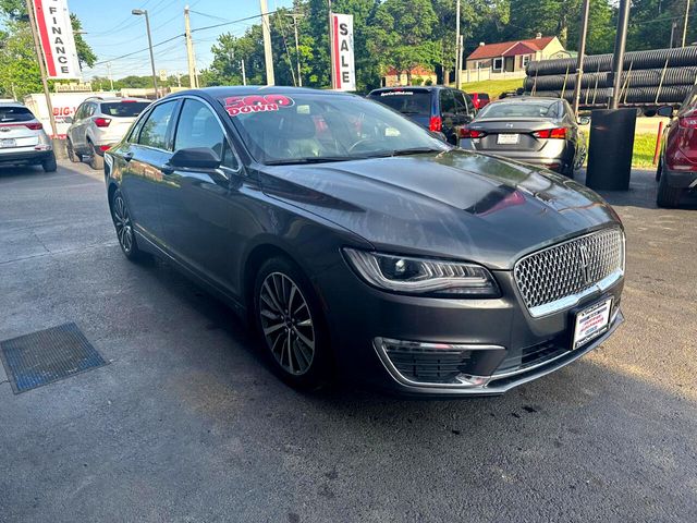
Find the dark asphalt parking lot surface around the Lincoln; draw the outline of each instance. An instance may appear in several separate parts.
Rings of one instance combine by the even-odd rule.
[[[74,321],[109,365],[14,394],[0,521],[697,521],[697,205],[607,193],[626,323],[504,397],[297,393],[223,305],[122,255],[101,174],[0,169],[0,340]]]

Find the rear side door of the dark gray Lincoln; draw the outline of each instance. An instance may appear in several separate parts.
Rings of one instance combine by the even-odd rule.
[[[172,156],[173,120],[180,100],[169,100],[152,107],[136,126],[120,157],[126,162],[121,180],[134,227],[161,248],[160,193],[164,191],[161,167]]]

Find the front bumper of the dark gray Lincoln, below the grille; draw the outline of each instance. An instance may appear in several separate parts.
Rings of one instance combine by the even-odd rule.
[[[501,394],[577,360],[602,343],[623,321],[623,279],[604,291],[584,296],[572,308],[534,318],[522,305],[512,273],[493,275],[501,297],[473,300],[382,292],[364,283],[345,266],[318,277],[315,284],[326,306],[339,369],[348,379],[357,377],[405,396]],[[572,351],[575,312],[606,297],[613,300],[608,330]],[[463,374],[474,379],[467,384],[412,379],[396,368],[376,339],[472,346],[473,356]],[[441,364],[448,365],[438,365]]]

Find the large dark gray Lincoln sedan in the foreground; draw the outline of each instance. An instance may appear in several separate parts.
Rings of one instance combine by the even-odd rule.
[[[172,95],[105,171],[125,256],[162,256],[247,314],[293,386],[340,372],[498,394],[622,321],[624,232],[600,196],[356,96]]]

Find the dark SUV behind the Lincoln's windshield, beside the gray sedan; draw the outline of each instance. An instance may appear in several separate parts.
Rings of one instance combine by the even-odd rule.
[[[453,145],[457,145],[457,129],[477,113],[469,95],[441,85],[384,87],[371,90],[368,98],[400,111],[429,131],[443,133]]]

